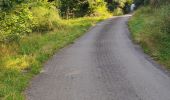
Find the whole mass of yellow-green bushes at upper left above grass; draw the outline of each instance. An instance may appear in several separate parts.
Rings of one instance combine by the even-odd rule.
[[[59,12],[47,2],[16,5],[12,10],[1,11],[0,42],[17,42],[32,31],[50,31],[59,26]]]

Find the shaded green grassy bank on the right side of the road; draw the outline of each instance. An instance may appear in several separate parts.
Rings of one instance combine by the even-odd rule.
[[[135,42],[160,64],[170,70],[170,5],[142,7],[129,21]]]

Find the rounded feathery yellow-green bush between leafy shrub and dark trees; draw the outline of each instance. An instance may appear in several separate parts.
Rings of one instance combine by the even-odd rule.
[[[34,21],[36,23],[33,31],[50,31],[60,22],[58,10],[47,2],[32,4],[31,12],[33,13]]]

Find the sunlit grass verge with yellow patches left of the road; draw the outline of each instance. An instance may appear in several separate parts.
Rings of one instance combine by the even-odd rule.
[[[43,63],[104,17],[63,20],[53,31],[31,33],[19,43],[0,45],[0,100],[24,100],[24,90]]]

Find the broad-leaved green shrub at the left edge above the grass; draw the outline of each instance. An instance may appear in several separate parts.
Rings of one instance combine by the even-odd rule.
[[[27,5],[17,6],[9,12],[0,14],[0,42],[18,41],[30,33],[33,27],[33,16]]]

